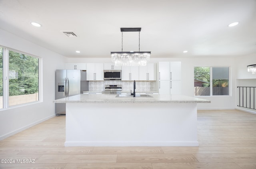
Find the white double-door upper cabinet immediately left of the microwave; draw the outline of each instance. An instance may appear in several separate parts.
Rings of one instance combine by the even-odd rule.
[[[87,81],[103,81],[103,63],[87,63],[86,64],[86,80]]]

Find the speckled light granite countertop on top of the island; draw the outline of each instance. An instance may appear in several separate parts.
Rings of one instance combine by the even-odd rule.
[[[183,95],[159,95],[152,97],[116,97],[116,94],[78,94],[54,100],[54,103],[210,103],[210,100]]]

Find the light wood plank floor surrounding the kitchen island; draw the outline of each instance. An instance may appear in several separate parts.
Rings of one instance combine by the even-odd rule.
[[[65,116],[0,141],[1,169],[256,169],[256,114],[198,111],[199,147],[64,147]],[[29,161],[33,162],[33,161]]]

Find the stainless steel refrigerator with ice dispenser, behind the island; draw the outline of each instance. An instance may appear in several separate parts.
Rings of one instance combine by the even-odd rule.
[[[56,99],[80,94],[81,90],[88,90],[86,71],[80,70],[56,70]],[[66,104],[56,103],[57,116],[66,114]]]

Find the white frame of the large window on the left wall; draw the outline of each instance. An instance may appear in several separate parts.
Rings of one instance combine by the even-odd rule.
[[[42,57],[38,57],[36,55],[32,55],[30,53],[22,52],[22,51],[5,47],[2,45],[0,45],[0,47],[3,48],[3,108],[1,108],[0,111],[42,102],[42,98],[43,98],[42,97]],[[35,57],[38,59],[38,100],[37,101],[9,106],[9,51],[14,51],[14,52],[28,55],[30,57]]]

